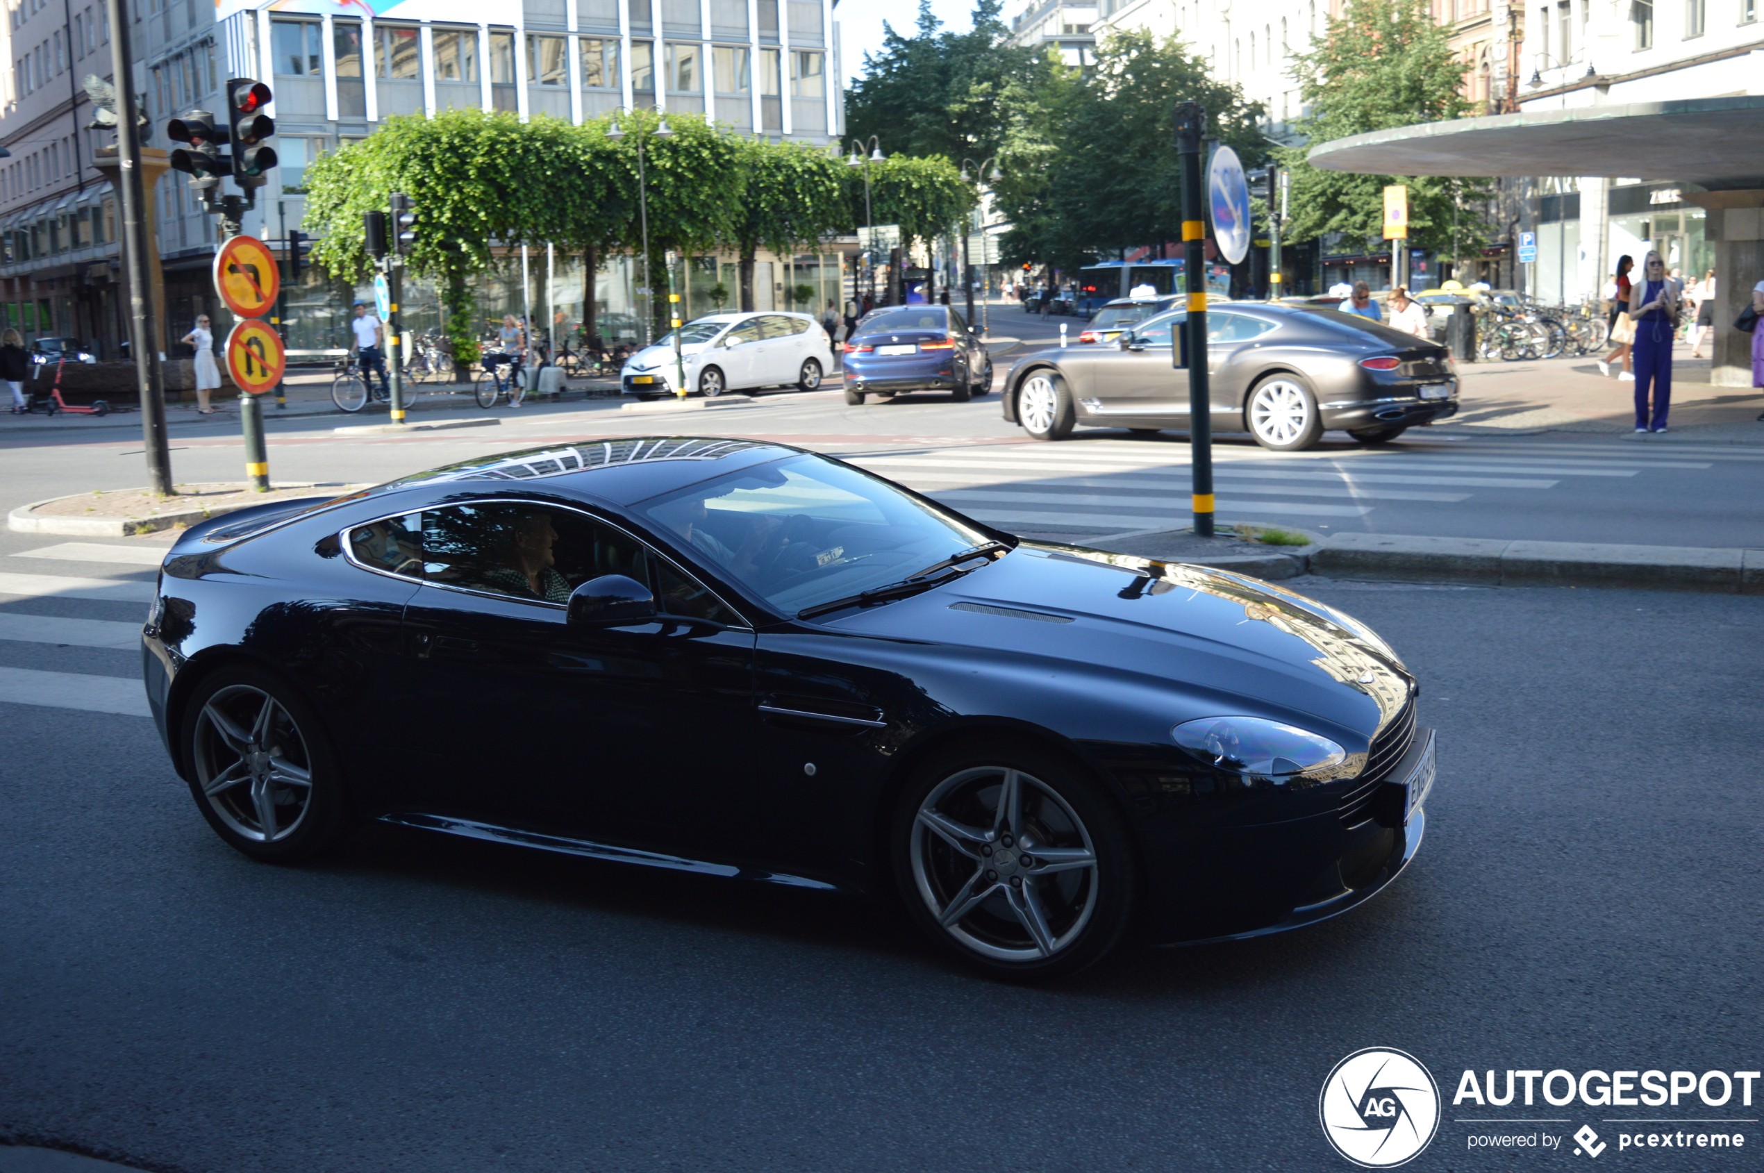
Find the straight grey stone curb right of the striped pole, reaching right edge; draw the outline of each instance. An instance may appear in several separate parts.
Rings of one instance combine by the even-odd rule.
[[[1311,573],[1339,579],[1764,594],[1764,550],[1404,534],[1334,534],[1312,550]]]

